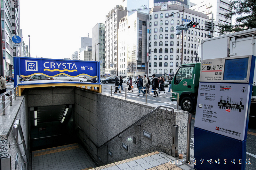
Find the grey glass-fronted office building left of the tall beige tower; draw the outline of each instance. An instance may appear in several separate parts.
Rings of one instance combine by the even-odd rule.
[[[105,75],[105,24],[92,28],[92,61],[100,62],[100,77]]]

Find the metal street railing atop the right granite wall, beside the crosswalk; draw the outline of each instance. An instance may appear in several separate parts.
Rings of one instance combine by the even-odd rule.
[[[112,85],[104,85],[104,86],[109,86],[109,87],[111,87],[111,88],[104,88],[103,86],[102,86],[102,92],[106,92],[106,93],[110,93],[111,94],[111,96],[113,96],[113,91],[115,91],[115,88],[116,87],[119,87],[119,90],[117,90],[117,93],[122,89],[122,88],[125,88],[125,90],[124,91],[121,91],[121,93],[119,93],[119,95],[118,95],[118,97],[124,97],[125,98],[125,100],[127,99],[127,96],[130,96],[130,95],[127,95],[127,89],[129,88],[129,87],[120,87],[120,86],[112,86]],[[107,90],[104,90],[104,89],[107,89]],[[133,90],[135,90],[135,89],[138,89],[138,88],[132,88]],[[138,89],[139,90],[139,89]],[[146,98],[145,98],[145,103],[148,103],[148,100],[150,100],[150,101],[157,101],[157,102],[161,102],[161,103],[167,103],[167,102],[163,102],[163,101],[159,101],[159,100],[152,100],[152,99],[148,99],[148,96],[154,96],[154,95],[150,95],[150,94],[148,94],[148,91],[149,92],[161,92],[161,93],[164,93],[164,91],[157,91],[157,90],[147,90],[147,89],[140,89],[140,90],[145,90],[146,91],[146,94],[145,94],[145,96],[146,96]],[[160,97],[160,98],[166,98],[166,99],[174,99],[174,100],[177,100],[177,110],[179,110],[179,94],[180,93],[177,93],[177,92],[165,92],[166,94],[172,94],[172,93],[174,93],[174,94],[177,94],[177,99],[176,98],[172,98],[172,97],[164,97],[164,96],[157,96],[158,98]],[[140,94],[141,95],[143,95],[143,93],[141,93],[140,92]],[[137,97],[137,95],[136,96],[134,96],[134,95],[132,95],[132,98],[139,98],[139,99],[143,99],[143,98],[141,98],[141,97]],[[170,103],[167,103],[167,104],[170,104]]]

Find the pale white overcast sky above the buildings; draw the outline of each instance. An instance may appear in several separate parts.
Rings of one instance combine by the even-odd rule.
[[[202,0],[191,0],[191,2]],[[20,28],[31,57],[71,58],[81,48],[81,37],[92,38],[92,28],[105,23],[106,14],[122,0],[20,0]],[[153,4],[153,0],[150,0]],[[29,48],[29,47],[28,47]]]

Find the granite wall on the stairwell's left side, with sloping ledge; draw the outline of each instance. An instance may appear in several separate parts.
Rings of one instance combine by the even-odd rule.
[[[25,154],[23,145],[12,145],[15,138],[13,137],[12,126],[15,120],[19,119],[23,135],[25,138],[25,144],[28,149],[28,101],[27,95],[22,95],[13,100],[13,106],[8,106],[6,108],[6,114],[0,114],[0,158],[8,157],[11,155],[11,167],[15,169],[15,158],[18,153],[18,166],[16,169],[21,169],[25,167],[26,156],[21,157]],[[20,133],[18,131],[18,143],[21,142]],[[3,165],[2,165],[3,166]]]

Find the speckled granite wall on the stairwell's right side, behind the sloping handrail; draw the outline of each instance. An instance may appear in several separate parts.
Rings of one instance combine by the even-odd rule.
[[[179,147],[186,152],[188,113],[175,109],[172,115],[171,110],[168,109],[167,117],[171,120],[166,120],[166,108],[158,109],[138,125],[114,138],[105,146],[97,148],[154,108],[151,104],[76,88],[75,129],[99,165],[155,151],[171,154],[172,125],[179,126]],[[151,133],[152,138],[144,137],[143,130]],[[136,144],[133,143],[134,138],[136,138]],[[128,146],[128,150],[122,147],[122,143]],[[108,155],[108,150],[113,153],[112,157]]]

